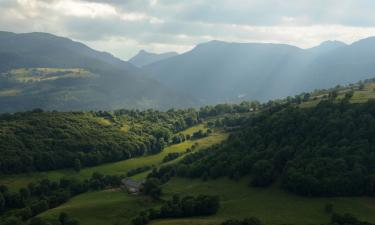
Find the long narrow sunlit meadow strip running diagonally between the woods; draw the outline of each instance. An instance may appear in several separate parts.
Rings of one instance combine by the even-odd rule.
[[[194,132],[196,129],[201,129],[203,125],[197,125],[196,127],[190,128],[185,132]],[[94,172],[100,172],[108,175],[121,175],[126,174],[127,171],[147,165],[158,166],[162,163],[163,158],[171,152],[183,153],[187,148],[190,148],[195,142],[197,142],[198,148],[205,148],[216,143],[220,143],[226,139],[227,134],[222,132],[216,132],[210,136],[197,140],[189,140],[180,144],[171,145],[166,147],[161,153],[155,155],[147,155],[137,158],[132,158],[124,161],[115,163],[103,164],[95,167],[83,168],[79,173],[72,169],[56,170],[49,172],[33,172],[17,175],[5,175],[0,177],[0,183],[7,185],[10,190],[17,191],[22,187],[26,187],[29,183],[35,182],[41,179],[59,180],[62,177],[75,177],[79,179],[85,179],[91,177]],[[171,161],[173,162],[173,161]],[[136,178],[143,178],[147,173],[139,174]]]

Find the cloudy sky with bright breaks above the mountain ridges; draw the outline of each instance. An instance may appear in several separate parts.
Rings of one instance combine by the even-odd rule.
[[[375,0],[0,0],[0,30],[48,32],[129,59],[210,40],[309,48],[375,36]]]

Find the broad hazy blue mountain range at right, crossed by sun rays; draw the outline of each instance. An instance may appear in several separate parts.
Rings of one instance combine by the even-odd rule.
[[[267,43],[211,41],[143,67],[153,79],[201,104],[269,100],[375,75],[375,38],[313,49]]]

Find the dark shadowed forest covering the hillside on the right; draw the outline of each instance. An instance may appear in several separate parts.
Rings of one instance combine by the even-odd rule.
[[[375,102],[321,101],[284,105],[250,117],[227,142],[184,157],[151,177],[215,179],[250,176],[250,185],[277,180],[307,196],[375,195]]]

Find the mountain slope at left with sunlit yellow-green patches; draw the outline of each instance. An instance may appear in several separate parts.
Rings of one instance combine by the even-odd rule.
[[[183,104],[182,104],[183,103]],[[47,33],[0,33],[0,111],[169,108],[191,98],[108,53]]]

